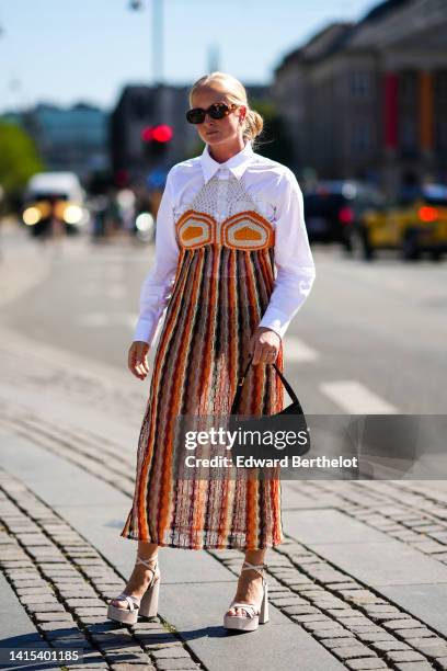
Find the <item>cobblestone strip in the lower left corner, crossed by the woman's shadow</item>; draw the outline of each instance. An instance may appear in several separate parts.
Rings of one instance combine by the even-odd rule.
[[[106,600],[123,590],[123,578],[4,470],[0,492],[0,565],[49,646],[82,648],[77,669],[203,669],[160,616],[124,627],[107,621]]]

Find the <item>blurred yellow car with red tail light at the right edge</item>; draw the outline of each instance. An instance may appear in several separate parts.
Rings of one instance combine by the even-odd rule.
[[[447,185],[424,184],[366,211],[353,236],[367,259],[380,249],[394,249],[405,260],[423,252],[439,260],[447,252]]]

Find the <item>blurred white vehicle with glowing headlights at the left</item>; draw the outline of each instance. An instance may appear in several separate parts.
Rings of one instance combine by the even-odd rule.
[[[26,185],[22,220],[33,237],[50,236],[55,224],[67,234],[79,232],[89,223],[84,198],[73,172],[39,172]]]

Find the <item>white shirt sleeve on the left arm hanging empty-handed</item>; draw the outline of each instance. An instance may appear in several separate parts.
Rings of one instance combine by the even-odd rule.
[[[171,297],[180,252],[175,238],[171,172],[168,173],[157,215],[154,265],[142,281],[140,312],[134,331],[134,341],[149,344]]]

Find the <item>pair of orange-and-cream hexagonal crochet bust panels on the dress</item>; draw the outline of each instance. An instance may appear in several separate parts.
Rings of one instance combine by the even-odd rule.
[[[203,212],[188,209],[175,224],[179,243],[186,249],[217,244],[231,249],[265,249],[275,244],[275,229],[260,214],[238,212],[220,225]]]

